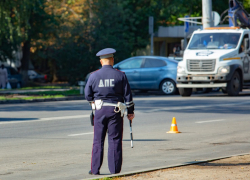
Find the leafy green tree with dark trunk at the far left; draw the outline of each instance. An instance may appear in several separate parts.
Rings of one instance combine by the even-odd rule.
[[[28,80],[31,43],[46,39],[51,16],[44,12],[46,0],[8,0],[0,4],[0,59],[13,59],[13,52],[22,47],[21,72]]]

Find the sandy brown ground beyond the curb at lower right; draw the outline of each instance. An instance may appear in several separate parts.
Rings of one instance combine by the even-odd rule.
[[[250,154],[119,176],[113,180],[249,180]]]

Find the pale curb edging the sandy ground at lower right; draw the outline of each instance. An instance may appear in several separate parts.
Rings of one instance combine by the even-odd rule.
[[[114,178],[114,177],[132,176],[132,175],[140,174],[140,173],[148,173],[148,172],[162,170],[162,169],[189,166],[189,165],[195,165],[195,164],[200,164],[200,163],[207,163],[207,162],[216,161],[216,160],[220,160],[220,159],[226,159],[226,158],[230,158],[230,157],[244,156],[244,155],[250,155],[250,153],[235,154],[235,155],[230,155],[230,156],[222,156],[222,157],[206,159],[206,160],[200,160],[200,161],[191,161],[191,162],[182,163],[182,164],[161,166],[161,167],[157,167],[157,168],[143,169],[143,170],[139,170],[139,171],[130,171],[130,172],[127,172],[127,173],[120,173],[120,174],[114,174],[114,175],[95,176],[93,178],[82,179],[82,180],[94,180],[94,179],[96,180],[96,179],[102,179],[102,178]]]

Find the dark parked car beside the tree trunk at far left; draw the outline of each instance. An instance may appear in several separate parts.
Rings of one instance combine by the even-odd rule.
[[[12,67],[6,67],[8,71],[8,80],[11,88],[21,88],[22,87],[22,75]]]

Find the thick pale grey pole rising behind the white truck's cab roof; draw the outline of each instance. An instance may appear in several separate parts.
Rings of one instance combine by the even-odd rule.
[[[212,0],[202,0],[203,29],[213,26]]]

